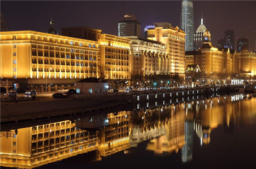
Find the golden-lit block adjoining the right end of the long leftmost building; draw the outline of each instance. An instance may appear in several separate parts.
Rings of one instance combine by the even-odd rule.
[[[101,34],[100,74],[106,79],[129,79],[131,71],[130,39]]]

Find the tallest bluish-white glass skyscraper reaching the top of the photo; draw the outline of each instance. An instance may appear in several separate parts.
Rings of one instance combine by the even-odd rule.
[[[181,11],[181,29],[185,31],[185,51],[194,48],[194,12],[193,2],[189,0],[182,1]]]

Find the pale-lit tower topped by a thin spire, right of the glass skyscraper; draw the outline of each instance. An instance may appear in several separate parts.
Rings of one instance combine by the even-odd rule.
[[[207,30],[205,25],[203,25],[202,21],[203,20],[201,19],[201,25],[198,26],[194,34],[194,50],[198,50],[202,47],[203,33]]]

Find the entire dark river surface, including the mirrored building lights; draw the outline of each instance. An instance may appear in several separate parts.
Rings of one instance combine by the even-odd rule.
[[[255,169],[256,98],[97,114],[2,131],[0,141],[1,169]]]

